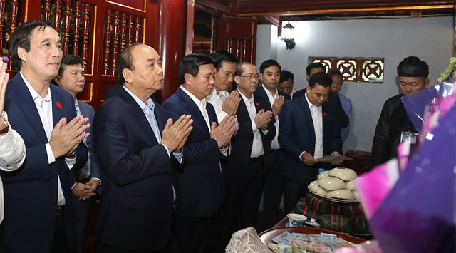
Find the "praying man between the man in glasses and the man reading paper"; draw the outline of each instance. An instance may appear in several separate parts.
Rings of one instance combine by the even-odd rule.
[[[284,101],[291,97],[278,90],[281,66],[276,60],[266,60],[259,66],[261,86],[254,95],[268,101],[264,108],[274,113],[274,128],[276,135],[271,142],[270,152],[266,156],[264,165],[264,190],[263,190],[263,229],[274,227],[279,220],[279,205],[284,192],[284,183],[280,172],[284,170],[284,151],[281,149],[279,136],[279,114],[284,106]]]

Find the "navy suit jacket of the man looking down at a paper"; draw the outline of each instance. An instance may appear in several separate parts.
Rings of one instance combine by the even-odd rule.
[[[342,153],[341,131],[336,125],[336,113],[328,103],[323,103],[323,155],[334,151]],[[314,180],[318,165],[309,166],[299,159],[303,151],[314,155],[315,130],[309,104],[304,96],[287,100],[280,113],[279,143],[289,154],[289,166],[282,174],[293,180]]]

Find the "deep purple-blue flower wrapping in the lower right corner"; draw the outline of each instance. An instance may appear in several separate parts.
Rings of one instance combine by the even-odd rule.
[[[371,219],[383,252],[456,252],[456,106],[432,135]]]

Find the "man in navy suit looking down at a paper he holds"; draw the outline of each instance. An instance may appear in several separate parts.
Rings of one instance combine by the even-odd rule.
[[[285,179],[284,212],[293,210],[307,185],[324,167],[316,159],[323,155],[340,155],[341,131],[336,113],[325,103],[331,91],[331,76],[320,72],[309,80],[306,93],[286,101],[280,114],[279,143],[289,154],[288,166],[282,171]]]

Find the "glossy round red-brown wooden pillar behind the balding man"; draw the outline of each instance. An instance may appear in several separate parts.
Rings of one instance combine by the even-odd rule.
[[[158,5],[157,42],[159,46],[156,49],[162,56],[165,71],[162,98],[157,99],[161,100],[160,102],[170,97],[180,86],[177,75],[179,62],[185,56],[187,8],[193,8],[193,4],[187,5],[187,0],[160,0]],[[193,29],[188,32],[192,33]]]

